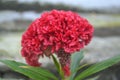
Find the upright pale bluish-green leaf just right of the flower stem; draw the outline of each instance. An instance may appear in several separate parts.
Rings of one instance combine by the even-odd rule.
[[[83,51],[81,52],[76,52],[74,54],[72,54],[71,56],[71,73],[72,75],[70,76],[70,80],[73,80],[73,78],[75,77],[76,74],[76,70],[79,67],[79,63],[80,61],[83,59]]]

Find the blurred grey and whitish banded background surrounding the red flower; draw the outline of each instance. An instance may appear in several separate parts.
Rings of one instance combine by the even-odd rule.
[[[78,12],[95,27],[94,38],[84,49],[83,64],[120,54],[119,0],[0,0],[0,59],[24,61],[20,55],[22,33],[41,13],[52,9]],[[41,61],[52,69],[52,61],[47,58]],[[120,80],[119,71],[119,65],[113,66],[101,72],[96,80]],[[1,63],[0,78],[28,80]]]

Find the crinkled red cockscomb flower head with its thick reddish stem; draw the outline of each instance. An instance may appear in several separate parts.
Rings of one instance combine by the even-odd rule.
[[[70,56],[87,45],[92,25],[77,13],[63,10],[45,12],[22,35],[22,56],[31,66],[39,66],[40,56],[56,53],[65,75],[70,74]]]

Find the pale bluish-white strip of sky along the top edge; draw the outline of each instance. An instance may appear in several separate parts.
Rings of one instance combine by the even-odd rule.
[[[63,3],[74,6],[82,6],[85,8],[103,8],[103,7],[118,7],[120,6],[120,0],[19,0],[19,2],[48,2],[48,3]]]

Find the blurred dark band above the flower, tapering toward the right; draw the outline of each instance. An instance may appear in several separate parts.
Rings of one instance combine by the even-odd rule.
[[[69,6],[64,4],[40,4],[39,2],[34,3],[18,3],[17,1],[3,1],[0,0],[0,10],[16,10],[16,11],[36,11],[42,12],[44,10],[52,10],[52,9],[61,9],[61,10],[71,10],[75,12],[93,12],[93,10],[85,10],[84,8]],[[94,12],[98,13],[99,11],[94,10]]]

